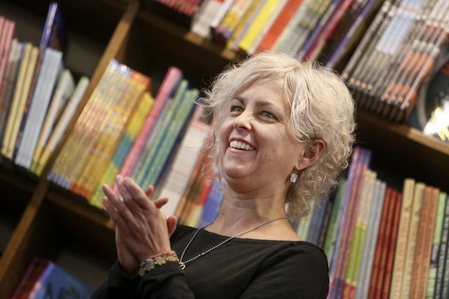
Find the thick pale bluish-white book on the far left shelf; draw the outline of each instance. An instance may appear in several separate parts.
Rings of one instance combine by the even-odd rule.
[[[53,93],[58,74],[62,69],[62,52],[46,48],[39,71],[36,90],[31,99],[28,119],[22,135],[22,142],[16,155],[15,163],[25,168],[31,167],[32,157],[38,142],[45,113]]]

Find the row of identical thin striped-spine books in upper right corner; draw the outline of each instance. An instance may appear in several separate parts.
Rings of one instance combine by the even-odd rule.
[[[449,3],[386,1],[342,76],[358,107],[408,119],[419,89],[448,52]]]

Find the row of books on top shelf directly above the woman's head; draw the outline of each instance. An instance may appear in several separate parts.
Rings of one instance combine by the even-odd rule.
[[[191,30],[250,55],[264,50],[293,52],[334,67],[357,42],[382,2],[206,0],[192,3],[197,12]]]

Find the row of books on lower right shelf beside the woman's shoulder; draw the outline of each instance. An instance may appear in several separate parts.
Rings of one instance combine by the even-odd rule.
[[[292,224],[324,249],[329,298],[446,298],[447,192],[411,178],[395,190],[370,161],[371,151],[356,147],[333,200]]]

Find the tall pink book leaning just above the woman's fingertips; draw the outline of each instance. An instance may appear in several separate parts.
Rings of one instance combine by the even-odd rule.
[[[179,68],[174,66],[170,66],[168,68],[168,72],[165,75],[164,81],[162,82],[158,94],[156,95],[156,99],[154,99],[153,108],[151,109],[151,112],[148,114],[148,117],[145,120],[144,125],[142,126],[142,130],[140,131],[139,135],[137,135],[134,143],[132,144],[132,147],[129,150],[128,155],[126,156],[126,159],[122,165],[122,168],[120,168],[120,171],[118,172],[119,175],[126,177],[127,175],[130,174],[132,168],[134,167],[134,164],[136,163],[137,159],[139,158],[139,155],[142,152],[142,149],[145,146],[148,136],[150,135],[151,130],[153,129],[154,123],[158,119],[159,113],[164,107],[164,104],[169,98],[172,89],[174,88],[175,84],[179,81],[179,78],[181,76],[182,72]],[[118,194],[118,188],[115,185],[115,183],[112,189],[116,192],[116,194]]]

